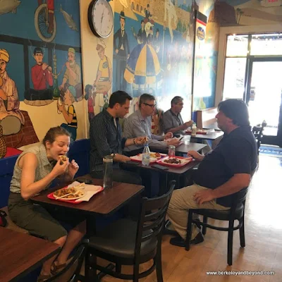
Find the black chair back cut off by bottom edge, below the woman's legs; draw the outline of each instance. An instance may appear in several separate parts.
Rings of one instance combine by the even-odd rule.
[[[78,249],[75,251],[71,262],[67,264],[67,266],[59,271],[56,275],[47,279],[45,282],[51,281],[68,281],[68,282],[77,282],[84,281],[84,277],[80,275],[80,269],[82,266],[83,259],[85,258],[85,244],[88,243],[88,240],[84,240],[83,245],[80,245]]]

